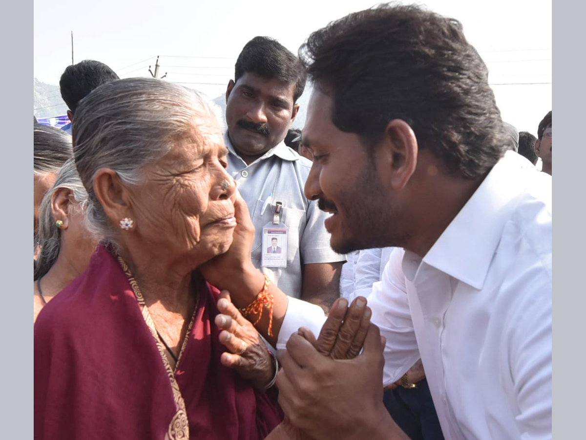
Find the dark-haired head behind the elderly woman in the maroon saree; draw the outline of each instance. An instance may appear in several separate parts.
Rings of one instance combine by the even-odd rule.
[[[59,80],[59,88],[63,101],[69,107],[67,117],[70,123],[61,129],[71,134],[71,124],[79,101],[101,84],[118,78],[114,70],[99,61],[83,60],[67,66]]]

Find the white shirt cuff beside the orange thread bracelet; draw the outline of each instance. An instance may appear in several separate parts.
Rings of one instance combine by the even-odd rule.
[[[287,313],[285,313],[281,330],[279,330],[279,336],[277,337],[277,350],[285,349],[289,337],[293,333],[297,333],[299,327],[308,328],[317,339],[325,321],[326,316],[323,314],[321,307],[289,296]]]

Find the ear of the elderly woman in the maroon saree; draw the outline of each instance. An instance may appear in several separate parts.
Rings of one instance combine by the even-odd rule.
[[[97,170],[94,177],[94,193],[105,215],[115,224],[122,218],[132,217],[130,194],[117,172],[110,168]]]

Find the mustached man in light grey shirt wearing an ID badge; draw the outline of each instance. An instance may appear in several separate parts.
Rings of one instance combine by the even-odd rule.
[[[311,163],[283,142],[305,88],[299,59],[274,39],[257,36],[241,50],[226,90],[228,171],[238,184],[256,236],[251,258],[287,295],[329,309],[339,297],[343,255],[333,252],[325,212],[304,194]],[[278,211],[278,212],[275,212]],[[264,259],[270,235],[286,230],[282,259]],[[284,241],[281,241],[281,243]],[[285,246],[282,246],[285,248]]]

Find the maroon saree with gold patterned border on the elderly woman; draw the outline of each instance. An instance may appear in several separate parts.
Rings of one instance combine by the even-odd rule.
[[[98,246],[35,323],[35,439],[263,439],[282,412],[220,364],[206,286],[173,371],[130,271]]]

